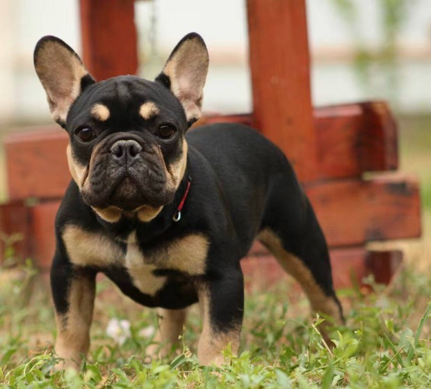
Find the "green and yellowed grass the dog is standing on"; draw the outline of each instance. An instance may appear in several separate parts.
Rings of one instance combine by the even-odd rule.
[[[246,294],[241,354],[225,351],[222,368],[200,367],[195,350],[200,319],[190,312],[178,356],[152,363],[145,347],[156,327],[152,310],[97,286],[92,347],[82,371],[54,371],[55,324],[47,280],[31,263],[0,267],[0,388],[431,388],[431,118],[400,120],[401,168],[421,180],[423,239],[398,242],[405,268],[374,293],[340,291],[347,325],[330,349],[308,303],[288,282]],[[8,255],[13,257],[13,252]],[[106,333],[127,319],[119,346]],[[316,318],[314,318],[316,319]],[[320,320],[320,319],[318,319]]]

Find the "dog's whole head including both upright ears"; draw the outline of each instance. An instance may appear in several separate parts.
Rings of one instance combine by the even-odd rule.
[[[171,203],[186,169],[184,133],[200,117],[208,51],[196,33],[174,48],[155,81],[96,82],[53,36],[34,63],[52,118],[67,130],[70,173],[86,204],[106,221],[136,213],[149,221]]]

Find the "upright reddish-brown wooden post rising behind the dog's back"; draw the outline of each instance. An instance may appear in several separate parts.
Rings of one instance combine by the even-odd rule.
[[[305,0],[247,0],[247,19],[254,122],[309,181],[318,172]]]

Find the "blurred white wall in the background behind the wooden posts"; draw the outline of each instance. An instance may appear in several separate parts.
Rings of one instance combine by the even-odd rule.
[[[376,46],[381,36],[376,1],[356,1],[361,4],[361,37],[367,45]],[[332,63],[322,61],[332,50],[348,53],[352,47],[349,30],[334,12],[332,2],[307,0],[311,49],[319,53],[311,74],[315,104],[384,97],[378,93],[364,95],[348,58]],[[10,120],[49,121],[44,93],[33,70],[33,48],[42,35],[51,34],[65,40],[79,53],[78,4],[78,0],[0,0],[0,126],[1,122]],[[149,30],[153,7],[156,28]],[[136,21],[143,45],[149,44],[148,37],[155,32],[158,58],[154,60],[154,69],[151,66],[143,69],[146,75],[158,71],[162,57],[183,35],[197,31],[204,36],[213,58],[204,108],[210,111],[250,109],[245,1],[156,0],[155,5],[137,1]],[[431,1],[416,0],[400,37],[407,51],[423,54],[410,58],[407,52],[407,59],[402,61],[400,106],[407,111],[431,112],[430,36]],[[223,56],[229,59],[229,65],[220,65]]]

